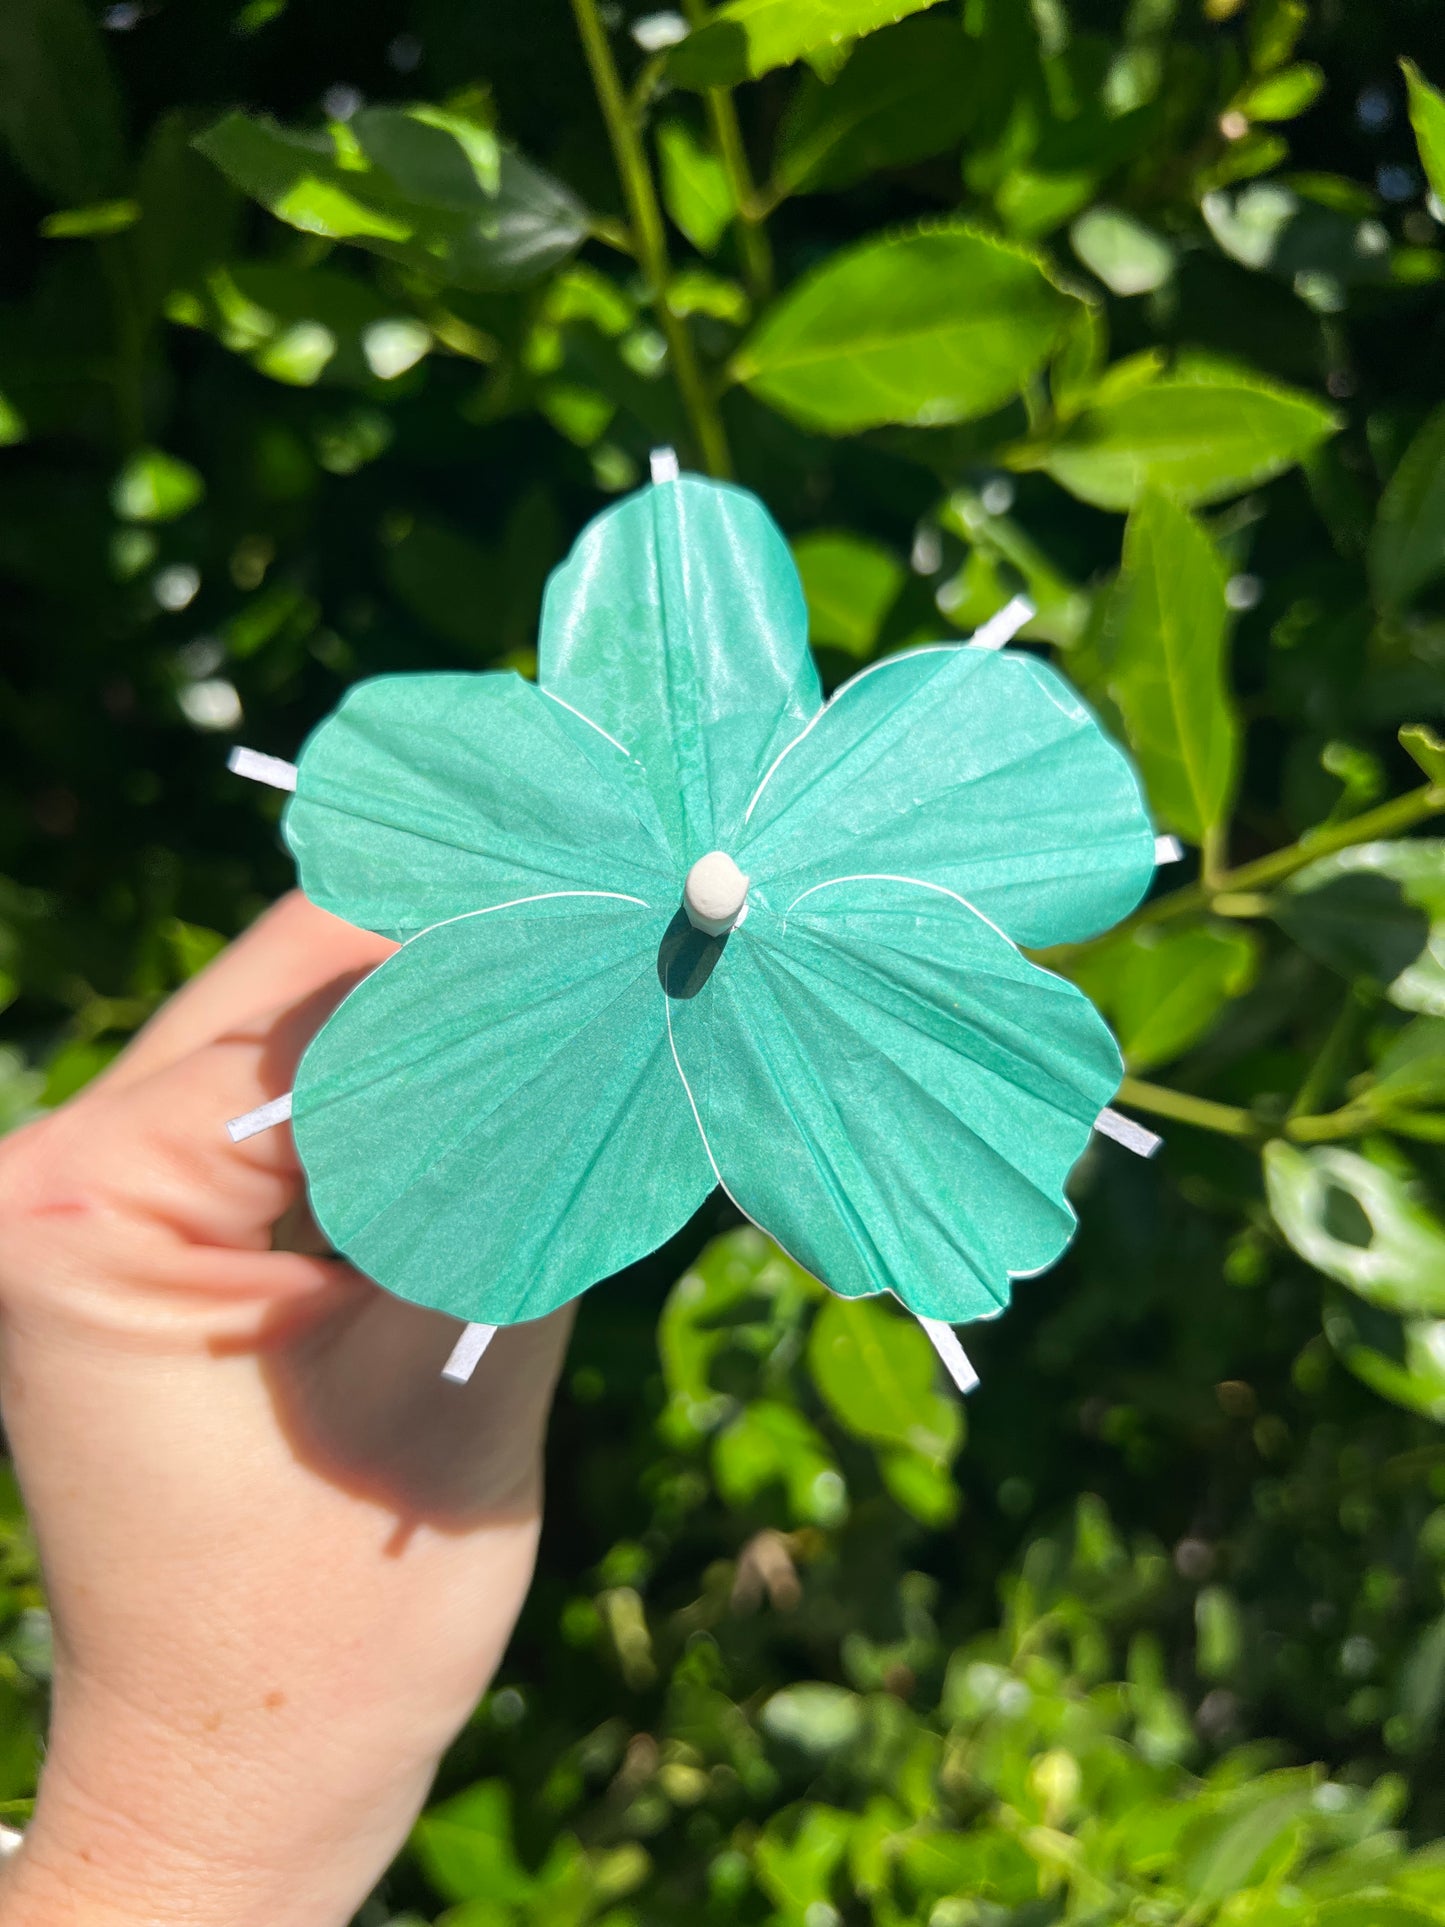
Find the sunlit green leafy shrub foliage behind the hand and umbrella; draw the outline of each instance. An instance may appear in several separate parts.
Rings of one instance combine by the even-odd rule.
[[[1187,846],[1048,958],[1166,1150],[1096,1145],[967,1412],[721,1204],[586,1301],[364,1927],[1445,1921],[1432,79],[1428,0],[8,0],[4,1123],[287,886],[225,746],[528,669],[665,441],[830,682],[1027,592]],[[13,1484],[0,1626],[19,1815]]]

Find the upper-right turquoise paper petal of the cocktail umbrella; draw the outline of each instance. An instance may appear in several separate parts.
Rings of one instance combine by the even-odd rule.
[[[838,690],[732,856],[775,910],[823,877],[890,871],[1042,946],[1133,910],[1154,831],[1129,763],[1062,676],[1023,653],[936,647]]]

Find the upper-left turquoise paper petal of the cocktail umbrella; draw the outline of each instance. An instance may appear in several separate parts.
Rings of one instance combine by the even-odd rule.
[[[676,892],[628,757],[514,674],[378,676],[308,738],[285,838],[322,910],[407,938],[543,890]]]

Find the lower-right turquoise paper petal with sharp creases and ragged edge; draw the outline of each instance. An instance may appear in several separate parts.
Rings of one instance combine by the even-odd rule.
[[[719,1181],[834,1291],[959,1324],[1058,1258],[1064,1181],[1119,1052],[967,904],[892,877],[825,884],[786,919],[751,908],[711,973],[669,981]]]

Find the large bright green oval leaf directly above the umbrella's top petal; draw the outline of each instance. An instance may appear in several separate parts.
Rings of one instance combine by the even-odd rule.
[[[1038,258],[965,225],[863,241],[805,276],[732,374],[805,428],[934,428],[1002,407],[1042,368],[1075,303]]]

